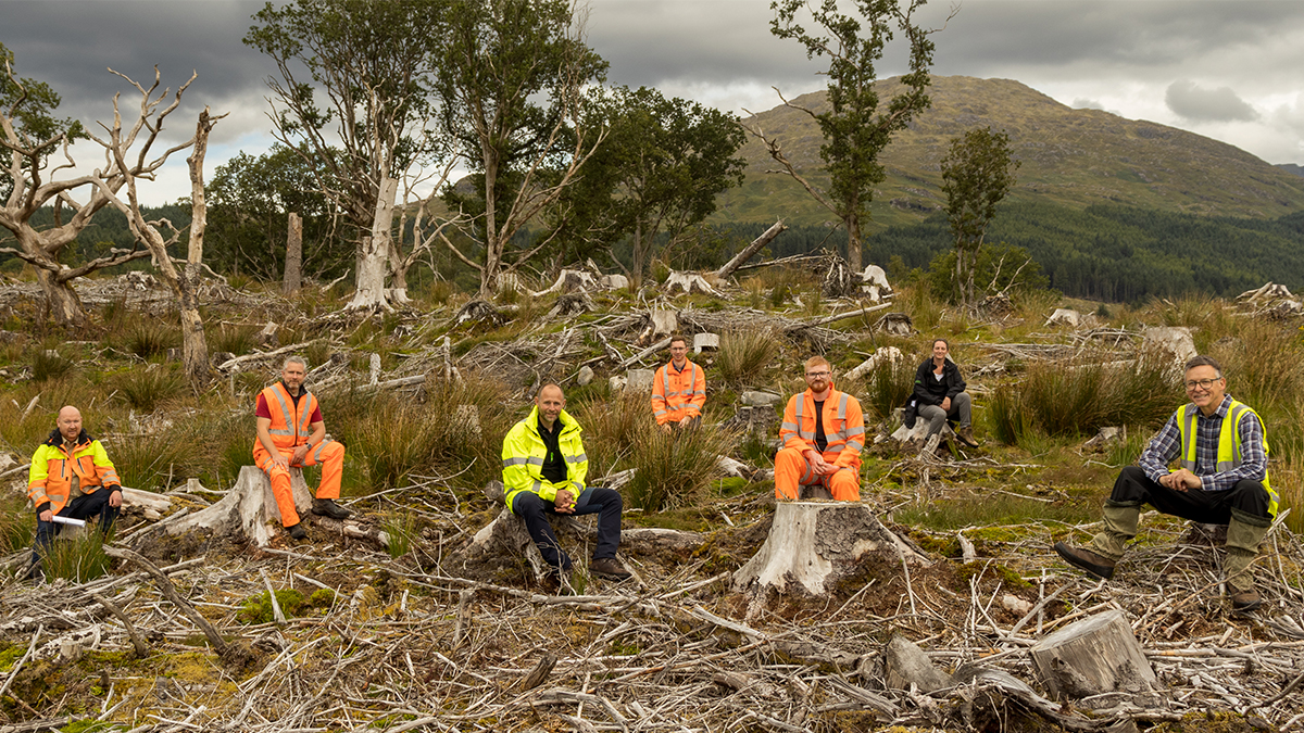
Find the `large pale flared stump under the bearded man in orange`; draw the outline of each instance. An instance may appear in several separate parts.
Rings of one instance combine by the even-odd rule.
[[[748,617],[772,593],[823,601],[844,583],[901,571],[902,562],[931,565],[859,502],[781,501],[769,537],[733,576],[734,592],[751,596]]]

